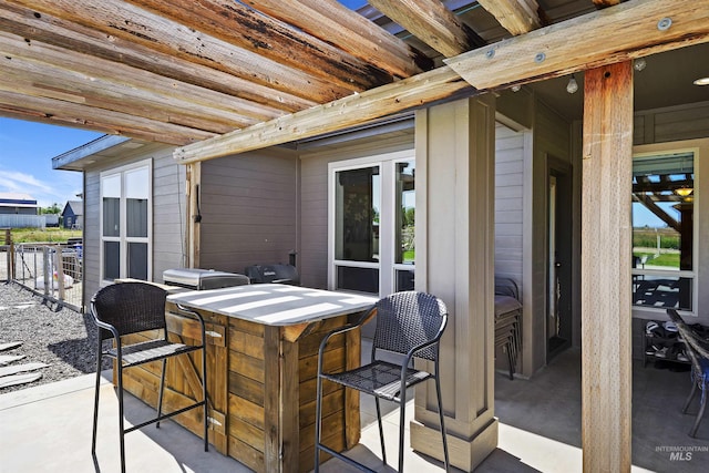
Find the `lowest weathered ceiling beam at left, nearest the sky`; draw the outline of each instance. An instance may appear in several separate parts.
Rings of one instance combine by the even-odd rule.
[[[51,113],[47,111],[51,110]],[[34,97],[0,90],[0,115],[31,122],[82,127],[138,140],[184,145],[206,140],[213,133],[172,123],[100,110],[81,103]],[[81,119],[76,119],[81,116]]]

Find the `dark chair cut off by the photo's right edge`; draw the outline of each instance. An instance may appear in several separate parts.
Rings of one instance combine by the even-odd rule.
[[[689,431],[689,436],[695,438],[697,436],[697,429],[699,429],[701,418],[705,414],[705,408],[707,407],[707,395],[709,395],[709,343],[707,342],[707,340],[702,340],[701,338],[699,338],[693,332],[693,330],[691,330],[691,328],[689,328],[685,323],[677,310],[667,309],[667,315],[677,326],[679,336],[685,342],[687,356],[689,356],[689,359],[691,360],[691,391],[689,392],[689,397],[687,398],[685,407],[682,408],[684,414],[687,413],[689,404],[697,394],[697,388],[699,388],[699,390],[701,391],[699,412],[697,413],[695,425]]]

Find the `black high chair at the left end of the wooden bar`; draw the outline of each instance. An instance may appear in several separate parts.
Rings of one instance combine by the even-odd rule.
[[[202,316],[194,313],[202,325],[202,343],[183,345],[167,340],[165,319],[165,300],[167,294],[164,289],[147,282],[120,282],[100,289],[91,299],[91,313],[99,326],[99,348],[96,357],[96,388],[93,410],[93,436],[91,454],[95,459],[96,426],[99,421],[99,392],[101,383],[101,364],[103,357],[115,360],[119,398],[119,428],[121,449],[121,471],[125,471],[125,443],[124,435],[151,423],[172,418],[191,409],[203,407],[204,412],[204,450],[208,450],[207,440],[207,388],[206,388],[206,345],[205,325]],[[132,345],[124,345],[121,337],[132,333],[156,330],[156,338]],[[113,348],[103,349],[103,341],[113,339]],[[182,408],[175,412],[163,414],[163,389],[165,384],[165,364],[167,358],[186,354],[202,350],[202,401]],[[154,419],[124,428],[123,411],[123,370],[151,361],[162,361],[162,374],[160,381],[160,394],[157,400],[157,415]],[[195,393],[195,395],[197,395]]]

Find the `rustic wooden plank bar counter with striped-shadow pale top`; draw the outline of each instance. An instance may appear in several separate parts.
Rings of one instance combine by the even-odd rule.
[[[207,323],[209,442],[216,450],[257,472],[312,470],[320,340],[374,302],[370,297],[285,285],[169,295],[172,339],[199,339],[197,322],[175,316],[179,307],[199,311]],[[360,333],[349,333],[329,343],[326,368],[359,366]],[[201,395],[199,354],[177,359],[183,361],[167,363],[165,412]],[[160,366],[126,370],[124,384],[156,405]],[[336,449],[350,449],[359,442],[359,397],[331,383],[325,389],[323,439]],[[202,435],[201,409],[175,420]]]

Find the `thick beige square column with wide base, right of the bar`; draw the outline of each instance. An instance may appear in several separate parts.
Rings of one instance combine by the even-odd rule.
[[[491,94],[417,112],[417,290],[446,304],[441,354],[451,463],[497,445],[494,418],[494,142]],[[443,459],[435,389],[417,389],[414,450]]]

